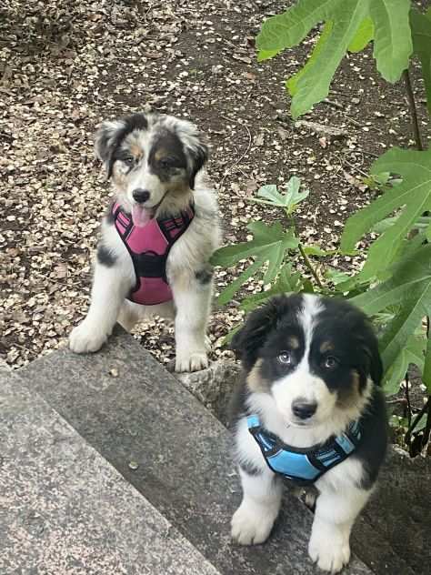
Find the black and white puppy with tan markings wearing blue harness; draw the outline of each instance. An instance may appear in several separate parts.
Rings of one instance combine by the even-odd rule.
[[[284,479],[295,485],[315,477],[306,480],[318,491],[308,552],[336,573],[350,558],[350,531],[386,452],[373,329],[346,301],[281,296],[247,318],[232,348],[244,367],[232,402],[243,487],[232,537],[243,545],[265,541]]]

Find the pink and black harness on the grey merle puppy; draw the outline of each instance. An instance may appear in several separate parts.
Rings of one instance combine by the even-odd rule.
[[[195,217],[189,206],[177,217],[153,218],[144,227],[135,227],[132,217],[118,203],[112,207],[116,231],[123,240],[135,268],[136,283],[127,299],[155,306],[172,299],[166,278],[166,260],[171,247]]]

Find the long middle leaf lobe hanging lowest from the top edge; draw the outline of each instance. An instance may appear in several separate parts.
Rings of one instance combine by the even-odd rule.
[[[291,114],[294,118],[305,114],[329,93],[329,85],[336,68],[346,54],[346,50],[356,35],[361,22],[367,15],[366,0],[344,0],[336,4],[336,14],[331,31],[322,45],[318,63],[306,71],[296,84],[296,94],[292,98]]]

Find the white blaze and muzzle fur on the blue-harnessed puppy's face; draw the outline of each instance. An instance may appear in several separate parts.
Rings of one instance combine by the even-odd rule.
[[[276,401],[276,407],[282,413],[287,422],[298,422],[292,411],[292,405],[300,400],[316,403],[315,415],[309,419],[311,422],[320,422],[327,419],[336,405],[336,394],[331,393],[322,378],[317,377],[310,370],[309,356],[313,339],[314,324],[317,314],[322,310],[316,296],[304,295],[304,306],[298,314],[300,326],[304,330],[305,351],[295,370],[278,379],[272,386],[272,394]],[[302,423],[306,423],[303,421]]]

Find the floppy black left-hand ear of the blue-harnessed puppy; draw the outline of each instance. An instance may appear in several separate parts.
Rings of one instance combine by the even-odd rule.
[[[262,308],[255,309],[246,318],[245,325],[236,332],[229,347],[241,358],[245,368],[255,365],[259,349],[288,307],[288,298],[272,298]]]

